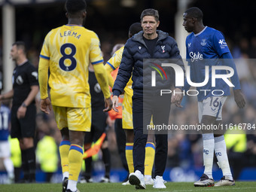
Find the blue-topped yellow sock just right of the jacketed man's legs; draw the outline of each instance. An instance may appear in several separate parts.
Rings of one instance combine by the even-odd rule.
[[[147,142],[145,148],[145,175],[151,175],[154,165],[155,148],[154,143]]]

